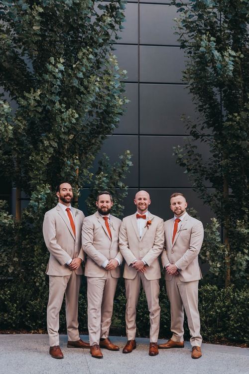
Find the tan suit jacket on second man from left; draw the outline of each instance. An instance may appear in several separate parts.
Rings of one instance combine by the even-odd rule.
[[[106,260],[117,257],[122,263],[123,257],[119,251],[119,230],[121,220],[110,215],[112,240],[108,234],[105,220],[99,212],[86,217],[82,226],[82,247],[86,253],[86,277],[104,277],[107,270],[102,267]],[[113,278],[120,277],[120,267],[111,270]]]

